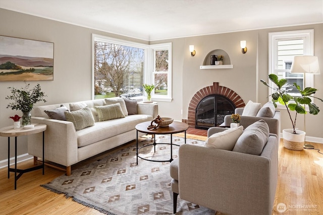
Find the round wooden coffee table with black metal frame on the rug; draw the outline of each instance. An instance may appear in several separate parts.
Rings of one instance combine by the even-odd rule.
[[[155,129],[148,129],[147,127],[150,125],[150,121],[149,122],[142,122],[136,125],[136,130],[137,130],[137,165],[138,165],[138,158],[141,158],[143,160],[146,161],[153,161],[153,162],[172,162],[173,161],[173,145],[175,146],[179,146],[176,144],[173,144],[173,133],[180,133],[180,132],[185,132],[185,136],[184,136],[184,140],[185,140],[185,144],[186,144],[186,130],[188,129],[188,124],[184,123],[184,122],[177,122],[174,121],[172,124],[170,124],[167,127],[158,127]],[[142,132],[142,133],[146,133],[146,134],[152,134],[153,135],[153,144],[148,144],[145,146],[142,146],[140,148],[138,148],[138,132]],[[138,155],[138,151],[143,148],[143,147],[148,147],[153,145],[154,146],[154,152],[156,152],[156,141],[155,141],[155,134],[171,134],[171,142],[168,145],[171,145],[171,158],[170,160],[163,160],[163,161],[159,161],[159,160],[150,160],[150,159],[146,159],[146,158],[142,158]],[[163,143],[165,144],[165,143]]]

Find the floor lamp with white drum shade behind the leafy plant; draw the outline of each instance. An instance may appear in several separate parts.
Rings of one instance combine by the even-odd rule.
[[[316,56],[295,56],[290,73],[302,73],[304,74],[304,86],[305,87],[305,76],[306,74],[319,74],[318,58]],[[305,108],[305,104],[304,104]],[[304,131],[305,130],[305,114],[304,114]],[[314,149],[310,144],[306,144],[304,141],[304,149]]]

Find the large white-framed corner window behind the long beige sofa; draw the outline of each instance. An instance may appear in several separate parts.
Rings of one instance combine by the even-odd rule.
[[[145,95],[143,84],[154,84],[152,100],[171,101],[171,46],[149,46],[93,34],[93,98],[138,98]]]

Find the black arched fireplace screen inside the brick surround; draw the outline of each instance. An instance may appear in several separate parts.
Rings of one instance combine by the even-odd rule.
[[[208,129],[224,122],[225,115],[234,113],[235,106],[228,98],[210,95],[202,99],[195,112],[195,128]]]

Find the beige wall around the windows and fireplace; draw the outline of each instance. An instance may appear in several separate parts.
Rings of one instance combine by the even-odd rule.
[[[158,102],[159,114],[175,120],[187,119],[187,108],[192,96],[201,88],[219,82],[237,92],[242,99],[264,104],[268,91],[260,83],[268,74],[268,32],[314,29],[314,55],[320,60],[323,73],[323,24],[295,26],[278,29],[264,29],[226,34],[153,41],[173,43],[173,101]],[[93,29],[78,27],[56,21],[0,9],[0,35],[41,40],[54,43],[54,81],[41,81],[42,90],[47,94],[46,104],[57,104],[91,99],[91,34],[128,39],[148,44],[133,38],[113,35]],[[240,40],[247,41],[248,51],[241,53]],[[194,45],[196,55],[191,57],[189,45]],[[230,56],[233,69],[199,69],[209,61],[210,52],[223,49]],[[314,87],[317,97],[323,98],[323,75],[315,76]],[[31,82],[35,85],[36,82]],[[8,117],[17,113],[6,109],[8,87],[21,87],[23,82],[0,82],[0,127],[12,125]],[[306,132],[309,136],[323,138],[323,104],[315,101],[321,112],[318,116],[307,114]],[[42,105],[39,103],[37,105]],[[183,112],[183,114],[181,113]],[[289,119],[282,111],[282,129],[289,128]],[[303,116],[298,117],[299,128],[303,128]],[[20,137],[18,154],[24,154],[26,138]],[[7,138],[0,137],[0,161],[7,159]],[[13,145],[12,145],[12,148]],[[13,151],[13,150],[12,150]],[[11,153],[11,157],[13,157]]]

